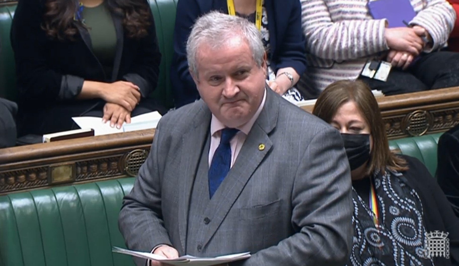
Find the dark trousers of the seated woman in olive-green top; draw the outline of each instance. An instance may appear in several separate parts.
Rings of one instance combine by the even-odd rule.
[[[46,107],[33,107],[27,104],[19,106],[18,136],[27,134],[43,135],[72,129],[78,129],[73,122],[74,116],[104,115],[105,102],[101,100],[82,100],[54,104]],[[131,117],[145,114],[151,111],[159,111],[162,115],[167,110],[157,104],[153,99],[142,99],[131,113]]]

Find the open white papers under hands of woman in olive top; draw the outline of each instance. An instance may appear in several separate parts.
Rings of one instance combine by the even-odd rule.
[[[158,112],[150,112],[139,116],[134,116],[131,118],[130,124],[124,122],[123,126],[119,129],[116,128],[116,126],[110,127],[110,121],[103,123],[101,117],[77,116],[72,117],[72,119],[73,121],[75,121],[75,123],[77,123],[77,125],[80,128],[92,128],[94,129],[94,135],[100,136],[112,133],[122,133],[135,130],[156,128],[159,119],[161,119],[161,115]]]

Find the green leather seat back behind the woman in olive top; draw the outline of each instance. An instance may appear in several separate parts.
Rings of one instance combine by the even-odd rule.
[[[175,9],[178,0],[149,0],[155,18],[159,49],[162,54],[158,86],[153,97],[168,108],[174,107],[169,69],[173,55]],[[16,4],[0,6],[0,97],[15,101],[16,73],[10,43],[11,20]],[[31,40],[33,41],[33,40]]]

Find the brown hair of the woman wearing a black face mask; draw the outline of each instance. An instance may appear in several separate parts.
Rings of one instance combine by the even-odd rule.
[[[343,80],[330,84],[317,98],[313,114],[330,123],[338,109],[347,102],[355,103],[373,138],[367,174],[373,173],[376,169],[385,173],[386,167],[395,171],[407,170],[406,161],[389,150],[378,102],[364,82]]]

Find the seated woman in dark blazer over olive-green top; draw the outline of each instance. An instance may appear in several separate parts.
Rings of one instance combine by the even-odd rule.
[[[72,116],[120,127],[155,110],[161,54],[146,0],[19,0],[11,26],[19,135],[73,129]]]

